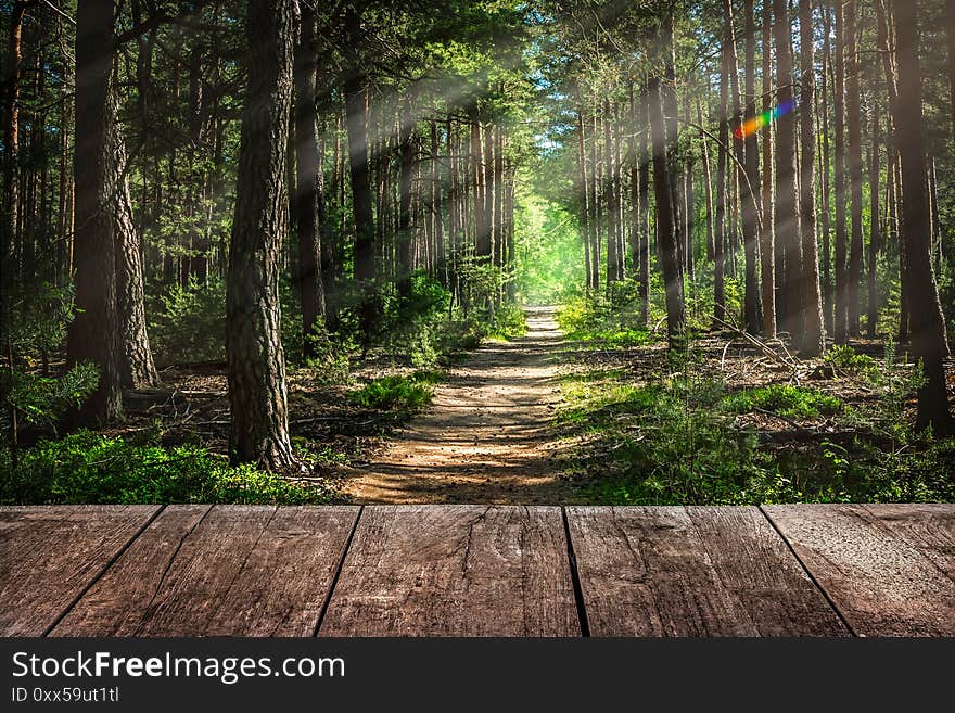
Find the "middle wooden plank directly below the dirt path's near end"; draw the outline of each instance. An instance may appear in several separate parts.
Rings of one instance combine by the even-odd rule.
[[[366,507],[320,636],[580,636],[555,507]]]

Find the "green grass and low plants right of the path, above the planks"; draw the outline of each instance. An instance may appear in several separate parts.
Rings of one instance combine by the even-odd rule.
[[[771,385],[727,394],[720,380],[655,374],[631,383],[604,370],[562,383],[558,415],[583,436],[571,461],[581,497],[595,505],[953,501],[955,441],[932,441],[888,413],[861,425],[854,409],[822,392]],[[754,408],[787,418],[832,415],[840,434],[774,445],[743,430]],[[843,416],[844,415],[844,416]],[[855,430],[853,430],[855,429]],[[807,432],[808,433],[808,432]]]

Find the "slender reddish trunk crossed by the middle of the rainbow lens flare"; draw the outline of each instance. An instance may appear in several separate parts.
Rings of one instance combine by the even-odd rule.
[[[763,112],[773,109],[773,10],[763,0]],[[775,339],[776,324],[776,228],[773,214],[773,127],[763,132],[762,225],[760,231],[760,270],[763,297],[763,336]]]

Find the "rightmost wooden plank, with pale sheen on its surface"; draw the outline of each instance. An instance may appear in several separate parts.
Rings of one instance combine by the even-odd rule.
[[[955,582],[924,553],[937,536],[913,546],[917,529],[901,523],[901,510],[888,521],[854,505],[764,510],[857,634],[955,635]]]

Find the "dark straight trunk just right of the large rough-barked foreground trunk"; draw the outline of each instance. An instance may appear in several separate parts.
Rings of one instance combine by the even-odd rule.
[[[302,5],[302,29],[295,48],[295,225],[298,228],[298,293],[305,356],[315,355],[310,339],[324,318],[321,244],[324,240],[324,171],[318,151],[318,24],[315,10]]]

